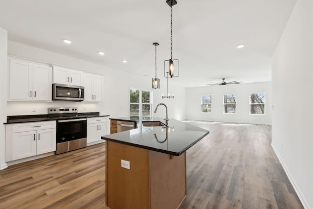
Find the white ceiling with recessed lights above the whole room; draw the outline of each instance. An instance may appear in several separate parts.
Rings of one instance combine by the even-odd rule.
[[[222,78],[271,80],[271,57],[296,0],[177,1],[173,59],[179,59],[179,77],[170,82],[196,87]],[[166,0],[0,0],[0,26],[9,40],[150,77],[143,79],[155,74],[152,44],[158,42],[157,77],[165,79]]]

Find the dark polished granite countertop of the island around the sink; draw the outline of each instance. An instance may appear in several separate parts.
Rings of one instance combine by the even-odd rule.
[[[137,121],[138,128],[111,135],[101,139],[179,156],[207,134],[208,130],[196,127],[189,123],[169,119],[169,128],[145,127],[142,121],[161,121],[158,117],[117,117],[110,118],[122,121]]]

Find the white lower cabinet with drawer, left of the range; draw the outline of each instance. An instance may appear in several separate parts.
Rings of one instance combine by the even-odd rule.
[[[6,162],[56,150],[56,121],[6,125]]]

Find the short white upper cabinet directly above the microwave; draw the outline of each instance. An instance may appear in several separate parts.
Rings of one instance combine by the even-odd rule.
[[[82,86],[83,71],[53,66],[53,83]]]

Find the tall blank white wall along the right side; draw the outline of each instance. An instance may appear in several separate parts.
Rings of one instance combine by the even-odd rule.
[[[313,1],[298,0],[272,64],[272,146],[305,208],[313,209]]]

